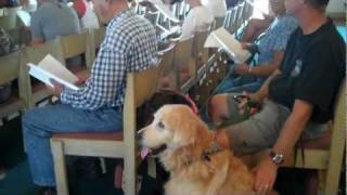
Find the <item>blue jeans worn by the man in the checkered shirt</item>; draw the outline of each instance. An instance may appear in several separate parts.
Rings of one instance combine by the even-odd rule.
[[[53,133],[121,131],[120,108],[87,110],[57,104],[33,108],[23,116],[22,129],[34,183],[54,186],[50,146]]]

